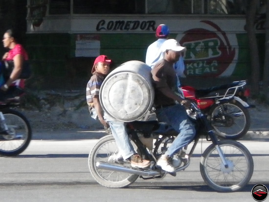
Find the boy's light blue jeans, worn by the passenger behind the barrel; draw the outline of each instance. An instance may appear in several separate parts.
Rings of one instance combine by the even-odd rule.
[[[130,142],[128,134],[126,133],[125,123],[117,121],[107,113],[104,113],[104,119],[109,123],[113,137],[116,140],[116,144],[119,148],[119,152],[124,160],[128,159],[130,156],[135,154],[133,145]],[[93,119],[98,119],[97,113],[94,108],[91,109],[91,117]]]

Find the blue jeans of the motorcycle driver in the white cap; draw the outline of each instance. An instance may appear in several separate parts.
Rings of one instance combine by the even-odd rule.
[[[166,155],[173,158],[176,152],[193,140],[195,135],[194,125],[189,120],[185,108],[179,104],[157,109],[156,116],[158,121],[168,123],[179,133],[165,152]]]

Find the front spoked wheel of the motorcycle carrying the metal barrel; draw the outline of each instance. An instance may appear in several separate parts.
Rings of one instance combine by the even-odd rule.
[[[214,144],[203,153],[200,162],[200,172],[212,189],[220,192],[238,191],[244,187],[253,174],[253,159],[247,148],[234,140],[219,142],[226,159],[224,166]]]

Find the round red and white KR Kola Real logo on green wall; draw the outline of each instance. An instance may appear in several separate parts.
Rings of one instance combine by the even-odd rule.
[[[195,25],[194,25],[195,26]],[[228,36],[215,23],[201,20],[199,26],[179,34],[176,39],[186,47],[186,77],[230,76],[238,58],[236,35]],[[233,46],[233,48],[232,48]]]

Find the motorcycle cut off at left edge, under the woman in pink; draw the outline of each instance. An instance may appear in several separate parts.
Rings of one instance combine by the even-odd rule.
[[[0,133],[0,156],[16,156],[22,153],[29,145],[32,130],[27,118],[20,112],[12,109],[20,104],[20,96],[24,92],[10,87],[11,98],[0,102],[0,124],[5,132]],[[16,95],[16,96],[12,96]]]

